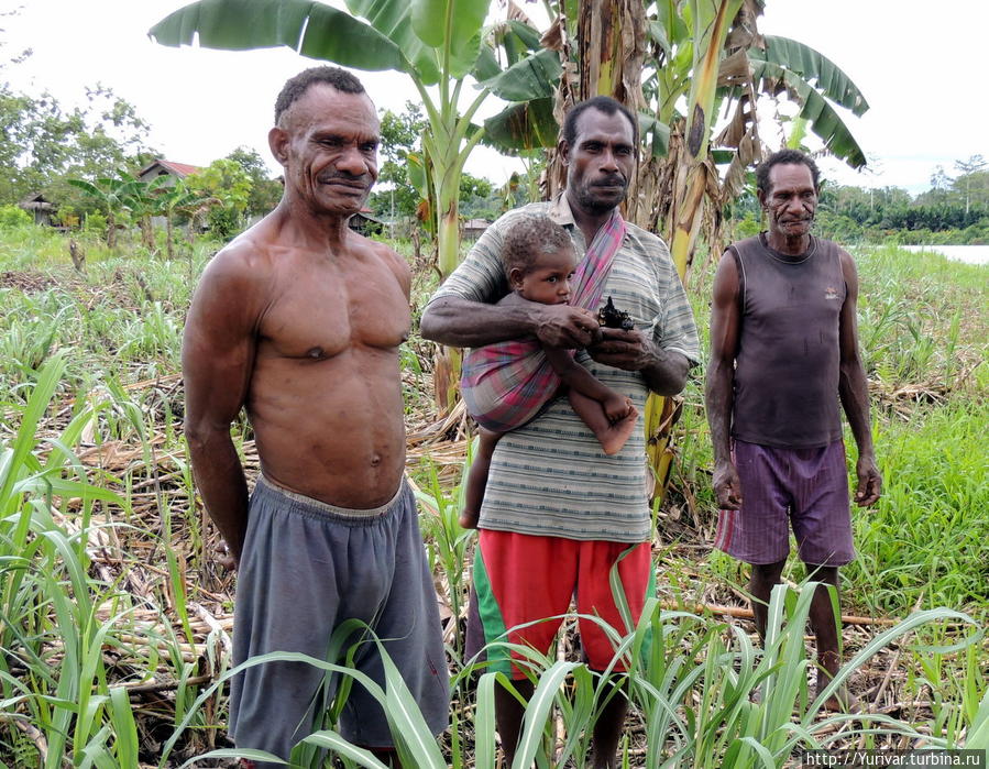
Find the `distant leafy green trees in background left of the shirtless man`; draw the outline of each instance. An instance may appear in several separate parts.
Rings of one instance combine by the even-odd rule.
[[[12,53],[0,40],[3,221],[25,220],[17,205],[40,194],[54,206],[54,223],[87,224],[111,243],[119,228],[135,227],[150,244],[152,217],[171,224],[198,216],[204,228],[227,239],[281,198],[281,183],[261,155],[245,147],[186,179],[140,182],[141,168],[162,155],[147,143],[151,127],[134,106],[102,84],[88,88],[85,103],[73,108],[47,90],[17,90],[7,73],[30,56],[30,48]]]

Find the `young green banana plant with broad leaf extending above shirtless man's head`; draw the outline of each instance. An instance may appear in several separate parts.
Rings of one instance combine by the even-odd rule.
[[[347,11],[311,0],[200,0],[155,24],[164,45],[242,51],[287,46],[309,58],[408,75],[422,99],[429,133],[439,267],[459,261],[458,191],[464,162],[480,141],[471,119],[485,88],[461,113],[464,78],[482,47],[488,0],[347,0]],[[348,12],[349,11],[349,12]],[[436,86],[437,92],[430,92]]]

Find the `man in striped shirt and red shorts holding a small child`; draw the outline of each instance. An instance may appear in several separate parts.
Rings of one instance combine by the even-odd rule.
[[[628,398],[639,415],[649,392],[679,393],[700,359],[690,306],[666,244],[625,222],[618,211],[635,172],[637,146],[635,117],[617,101],[596,97],[574,106],[559,145],[567,189],[557,200],[510,211],[487,229],[430,300],[422,336],[470,348],[535,338],[545,349],[575,350],[576,362]],[[520,217],[534,216],[562,226],[578,257],[596,264],[597,278],[604,274],[600,304],[541,304],[510,292],[502,246]],[[607,297],[628,312],[631,330],[597,326],[594,315]],[[616,563],[638,619],[651,583],[644,442],[639,425],[624,446],[606,453],[567,397],[552,398],[530,421],[501,437],[477,524],[477,600],[472,608],[483,638],[475,633],[469,647],[535,623],[513,630],[507,640],[546,651],[560,622],[536,620],[564,614],[573,595],[579,613],[596,615],[624,633],[608,581]],[[606,634],[585,619],[580,631],[591,669],[603,671],[614,657]],[[513,662],[516,689],[527,697],[532,684],[518,667],[520,660]],[[623,670],[620,663],[615,669]],[[594,730],[593,766],[615,766],[626,708],[620,692],[605,706]],[[496,710],[510,762],[523,707],[499,688]]]

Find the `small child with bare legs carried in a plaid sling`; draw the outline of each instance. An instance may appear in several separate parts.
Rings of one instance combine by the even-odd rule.
[[[548,217],[525,217],[505,238],[501,257],[508,286],[514,294],[542,305],[568,304],[572,300],[571,284],[578,266],[578,255],[567,230]],[[596,300],[600,299],[600,289],[597,299],[594,298],[593,292],[590,298],[596,304]],[[589,319],[596,323],[597,316],[591,310],[584,309]],[[477,403],[477,391],[469,384],[471,371],[487,365],[486,375],[502,375],[507,380],[507,383],[503,384],[506,392],[502,399],[512,400],[515,395],[512,392],[512,384],[515,381],[503,372],[515,365],[518,356],[525,355],[543,356],[557,376],[553,377],[550,372],[546,372],[549,374],[545,378],[548,386],[543,387],[541,392],[535,393],[535,398],[530,397],[534,393],[526,393],[529,399],[524,408],[515,408],[516,404],[512,404],[510,418],[517,419],[517,424],[485,419],[482,415],[485,408]],[[485,356],[486,362],[484,362]],[[492,365],[492,360],[494,360],[494,365]],[[543,348],[535,340],[501,343],[470,351],[464,356],[463,371],[463,398],[468,411],[480,426],[477,454],[474,457],[468,475],[466,498],[464,509],[460,515],[460,525],[463,528],[477,527],[491,459],[501,437],[508,430],[519,428],[536,417],[557,395],[560,386],[567,388],[570,405],[583,422],[591,428],[601,442],[604,453],[616,453],[628,440],[636,426],[638,410],[633,406],[631,400],[603,385],[591,372],[576,363],[573,360],[572,350]],[[532,380],[527,380],[526,384],[529,387],[518,389],[531,391],[532,382]],[[517,400],[521,399],[521,397],[517,398]],[[504,416],[504,411],[498,416],[502,419],[508,419]],[[493,429],[493,424],[502,429]]]

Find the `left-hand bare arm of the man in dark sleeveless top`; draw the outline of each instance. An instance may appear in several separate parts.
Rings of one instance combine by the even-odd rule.
[[[711,301],[711,362],[704,403],[711,442],[714,448],[714,494],[722,509],[741,507],[741,483],[732,462],[732,406],[735,384],[735,355],[738,352],[738,331],[741,309],[738,304],[738,267],[730,253],[725,252],[714,274]]]

